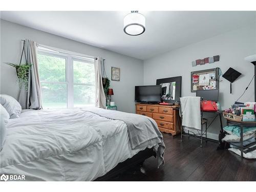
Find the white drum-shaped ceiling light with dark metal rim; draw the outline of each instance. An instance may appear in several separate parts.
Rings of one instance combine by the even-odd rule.
[[[145,31],[145,17],[138,11],[131,11],[123,18],[123,31],[127,35],[140,35]]]

